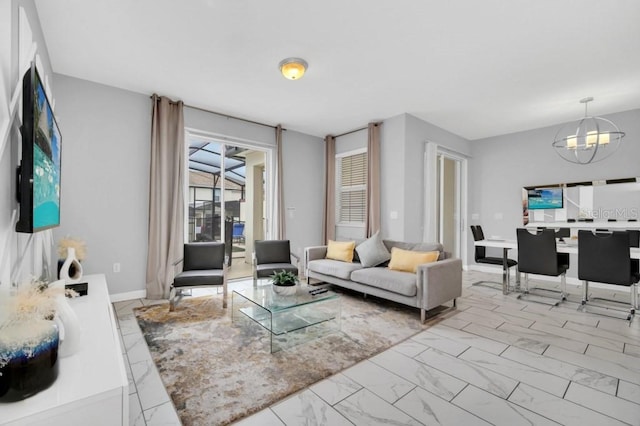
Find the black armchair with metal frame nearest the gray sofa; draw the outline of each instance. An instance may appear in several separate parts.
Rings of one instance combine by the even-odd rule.
[[[291,253],[289,240],[254,241],[253,286],[257,287],[259,279],[269,278],[275,272],[287,271],[298,275],[298,261],[298,256]]]

